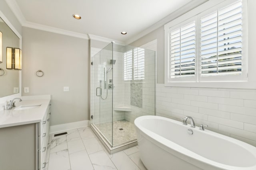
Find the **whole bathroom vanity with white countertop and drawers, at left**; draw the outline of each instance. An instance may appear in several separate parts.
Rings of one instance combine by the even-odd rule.
[[[0,169],[44,170],[50,129],[50,95],[23,96],[0,111]]]

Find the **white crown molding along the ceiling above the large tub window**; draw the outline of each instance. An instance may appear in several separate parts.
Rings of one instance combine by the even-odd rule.
[[[208,0],[192,0],[192,1],[190,1],[188,4],[182,6],[178,10],[172,12],[170,15],[166,16],[162,20],[154,23],[152,26],[148,27],[147,29],[143,30],[142,32],[138,33],[137,35],[133,36],[131,39],[128,39],[127,41],[125,41],[125,44],[130,44],[130,43],[140,39],[141,37],[144,37],[148,33],[151,33],[152,31],[158,29],[159,27],[162,27],[166,23],[174,20],[175,18],[178,18],[179,16],[182,16],[186,12],[193,10],[194,8],[200,6],[201,4],[203,4],[204,2],[207,2],[207,1]]]

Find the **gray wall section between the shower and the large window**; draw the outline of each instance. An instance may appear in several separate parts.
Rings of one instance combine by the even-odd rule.
[[[140,47],[150,41],[153,41],[154,39],[157,39],[157,83],[164,83],[164,26],[152,31],[151,33],[148,33],[130,45]]]

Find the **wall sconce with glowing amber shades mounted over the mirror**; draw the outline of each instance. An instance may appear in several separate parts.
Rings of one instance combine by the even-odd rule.
[[[6,47],[6,68],[12,70],[21,70],[21,54],[21,49]]]

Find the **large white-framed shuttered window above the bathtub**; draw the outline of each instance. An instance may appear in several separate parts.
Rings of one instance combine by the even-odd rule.
[[[245,7],[225,1],[167,23],[166,82],[246,81]]]

